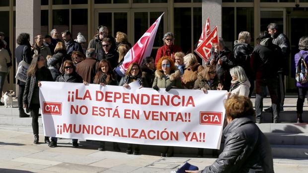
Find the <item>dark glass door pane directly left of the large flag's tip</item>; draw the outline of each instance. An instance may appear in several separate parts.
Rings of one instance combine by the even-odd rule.
[[[136,43],[140,37],[148,30],[148,12],[135,12],[134,16],[134,29]]]

